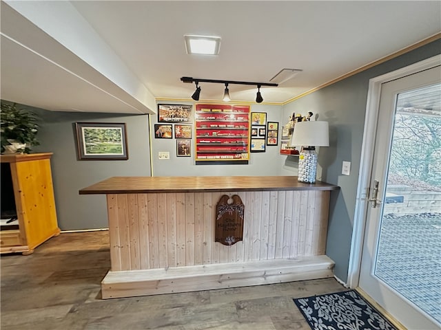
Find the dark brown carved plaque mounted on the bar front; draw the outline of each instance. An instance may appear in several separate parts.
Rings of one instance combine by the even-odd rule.
[[[245,206],[238,195],[223,195],[216,205],[215,240],[223,245],[233,245],[243,240]]]

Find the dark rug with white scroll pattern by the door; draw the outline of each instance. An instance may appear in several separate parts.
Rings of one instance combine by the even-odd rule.
[[[356,291],[294,299],[313,330],[397,330]]]

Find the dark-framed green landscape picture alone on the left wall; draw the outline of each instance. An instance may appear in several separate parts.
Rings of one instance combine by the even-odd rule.
[[[76,122],[79,160],[125,160],[127,135],[125,123]]]

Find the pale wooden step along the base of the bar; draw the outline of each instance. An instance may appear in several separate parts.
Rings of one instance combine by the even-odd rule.
[[[108,272],[103,299],[194,292],[334,276],[328,256]]]

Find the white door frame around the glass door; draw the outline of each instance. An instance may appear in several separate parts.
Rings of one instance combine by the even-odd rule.
[[[365,226],[369,198],[369,184],[371,180],[373,153],[375,147],[378,111],[380,107],[380,93],[383,83],[396,80],[404,76],[416,74],[425,69],[441,65],[441,54],[426,60],[402,67],[393,72],[369,79],[367,92],[365,128],[360,157],[360,171],[358,175],[355,214],[353,218],[351,252],[349,254],[349,267],[347,287],[354,289],[360,281],[360,267],[362,258],[363,241],[365,239]]]

